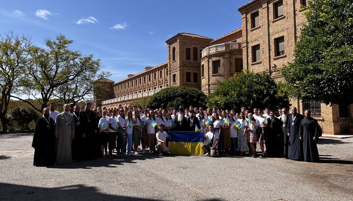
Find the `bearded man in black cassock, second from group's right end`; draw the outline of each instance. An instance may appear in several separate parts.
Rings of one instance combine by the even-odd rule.
[[[288,115],[287,135],[288,159],[303,160],[303,142],[299,139],[299,126],[304,116],[297,112],[296,107],[291,108],[292,114]]]

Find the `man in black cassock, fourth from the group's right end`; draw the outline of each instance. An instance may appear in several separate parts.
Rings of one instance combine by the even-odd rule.
[[[283,156],[283,134],[281,131],[282,123],[275,116],[275,111],[270,112],[267,118],[267,155],[270,157]]]

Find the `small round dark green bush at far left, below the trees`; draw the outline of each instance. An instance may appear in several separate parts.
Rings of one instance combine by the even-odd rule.
[[[12,123],[23,130],[28,130],[28,124],[33,120],[36,121],[39,115],[32,108],[19,107],[9,111],[7,118],[10,120],[10,124]]]

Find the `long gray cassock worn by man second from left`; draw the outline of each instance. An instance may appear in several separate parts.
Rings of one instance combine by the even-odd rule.
[[[55,120],[56,164],[73,163],[71,156],[71,136],[75,136],[75,121],[73,115],[59,113]]]

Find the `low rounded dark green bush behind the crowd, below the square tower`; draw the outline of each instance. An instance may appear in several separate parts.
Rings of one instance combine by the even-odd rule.
[[[201,90],[190,87],[170,87],[162,89],[155,93],[147,102],[147,107],[152,109],[170,107],[179,108],[179,105],[184,107],[197,106],[204,107],[206,94]]]

